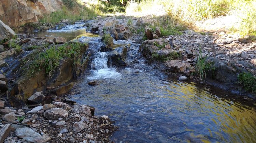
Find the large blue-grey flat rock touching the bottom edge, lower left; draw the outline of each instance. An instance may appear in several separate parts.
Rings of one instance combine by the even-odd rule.
[[[17,137],[22,138],[23,142],[45,143],[51,140],[51,138],[47,134],[41,136],[39,133],[33,131],[31,128],[17,128],[15,133]]]

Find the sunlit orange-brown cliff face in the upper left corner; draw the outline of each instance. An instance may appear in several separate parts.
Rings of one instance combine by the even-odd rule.
[[[1,0],[0,19],[12,28],[38,22],[43,14],[60,10],[61,0]]]

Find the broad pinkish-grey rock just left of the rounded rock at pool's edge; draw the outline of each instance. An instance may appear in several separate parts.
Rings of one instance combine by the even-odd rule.
[[[68,117],[68,112],[59,108],[51,108],[44,112],[44,117],[48,120],[58,120],[58,118]]]

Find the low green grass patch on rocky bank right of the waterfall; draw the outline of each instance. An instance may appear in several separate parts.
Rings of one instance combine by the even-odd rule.
[[[176,60],[176,59],[179,59],[179,58],[181,58],[181,54],[180,54],[180,53],[177,53],[177,52],[175,52],[175,51],[172,51],[172,52],[169,53],[168,55],[159,55],[158,53],[153,52],[153,53],[151,54],[151,58],[152,58],[152,60],[158,60],[158,61],[165,62],[165,61],[168,61],[168,60]]]

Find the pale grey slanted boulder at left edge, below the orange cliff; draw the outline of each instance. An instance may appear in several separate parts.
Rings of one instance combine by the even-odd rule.
[[[0,6],[0,8],[1,8],[1,6]],[[0,20],[0,41],[2,39],[7,39],[7,38],[12,39],[14,37],[15,37],[15,32],[8,25],[4,24]]]

